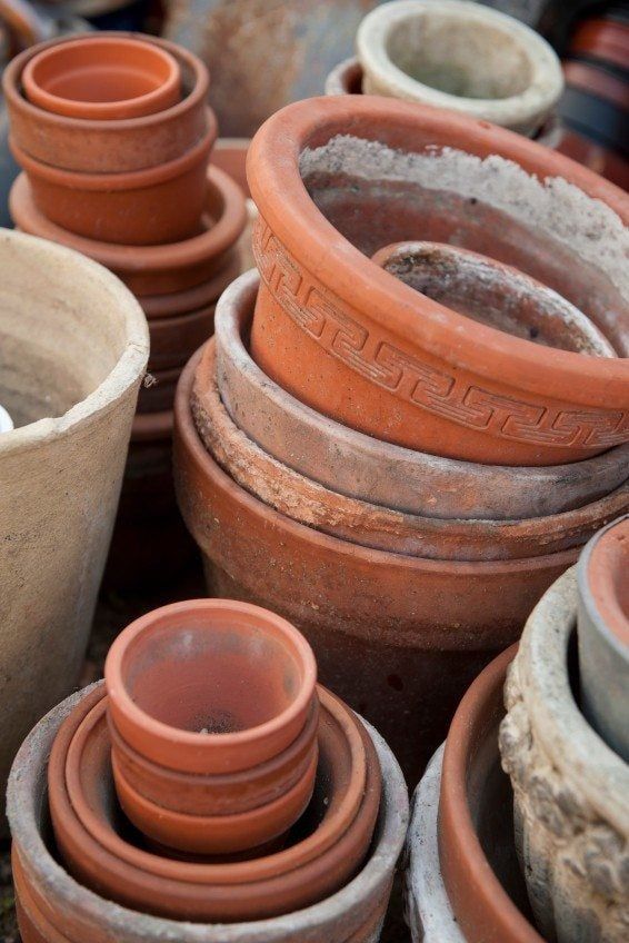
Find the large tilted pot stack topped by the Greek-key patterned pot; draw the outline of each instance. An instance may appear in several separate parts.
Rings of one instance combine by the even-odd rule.
[[[369,96],[276,115],[248,177],[259,275],[179,383],[179,504],[210,593],[298,625],[417,782],[467,684],[627,510],[627,199]]]

